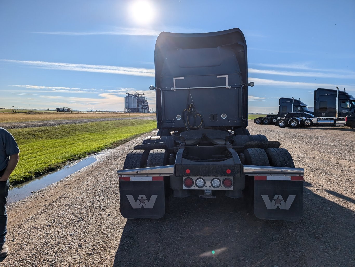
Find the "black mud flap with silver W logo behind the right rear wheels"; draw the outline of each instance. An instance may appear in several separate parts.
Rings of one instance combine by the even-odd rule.
[[[302,213],[303,177],[302,180],[288,181],[254,180],[254,214],[256,217],[297,221],[302,217]]]

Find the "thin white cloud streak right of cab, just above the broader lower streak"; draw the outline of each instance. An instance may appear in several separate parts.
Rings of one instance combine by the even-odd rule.
[[[248,68],[249,73],[262,73],[283,76],[302,76],[302,77],[322,77],[322,78],[347,78],[354,79],[355,75],[344,75],[337,73],[321,73],[321,72],[299,72],[299,71],[275,71],[273,69],[255,69]]]

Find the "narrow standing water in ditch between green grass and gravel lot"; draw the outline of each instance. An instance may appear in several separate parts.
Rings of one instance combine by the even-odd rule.
[[[33,180],[29,180],[22,184],[11,187],[9,190],[9,194],[7,195],[7,203],[12,203],[24,199],[27,196],[30,196],[33,191],[45,188],[48,185],[56,183],[59,180],[69,176],[70,174],[73,174],[81,170],[82,168],[89,166],[91,163],[97,161],[97,156],[100,154],[103,154],[103,152],[88,156],[75,164],[68,164],[58,171],[39,176],[37,178],[34,178]]]

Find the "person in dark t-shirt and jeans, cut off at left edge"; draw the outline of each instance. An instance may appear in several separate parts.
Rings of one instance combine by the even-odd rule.
[[[0,258],[9,253],[6,244],[7,234],[7,211],[6,198],[9,192],[9,177],[20,160],[20,149],[7,130],[0,127]]]

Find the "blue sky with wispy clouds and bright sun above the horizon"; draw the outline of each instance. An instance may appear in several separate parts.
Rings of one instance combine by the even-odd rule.
[[[313,91],[355,95],[355,1],[0,1],[0,107],[124,110],[126,92],[155,110],[154,45],[162,31],[240,28],[249,112]]]

